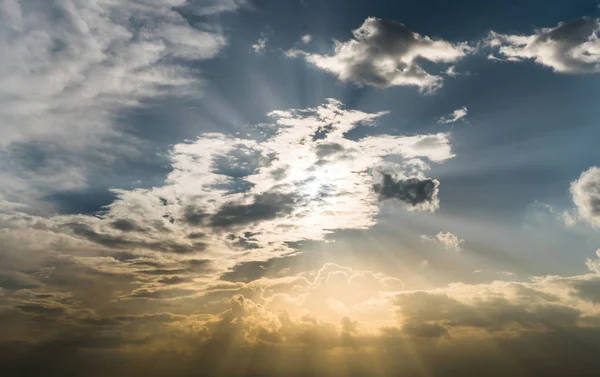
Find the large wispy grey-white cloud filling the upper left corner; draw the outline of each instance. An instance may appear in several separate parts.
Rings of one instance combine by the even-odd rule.
[[[31,202],[86,187],[91,170],[138,156],[139,141],[117,129],[115,115],[150,98],[201,95],[190,62],[226,45],[218,24],[190,23],[179,10],[241,3],[3,2],[0,190]]]

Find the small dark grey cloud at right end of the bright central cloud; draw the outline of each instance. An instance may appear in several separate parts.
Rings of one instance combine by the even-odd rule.
[[[379,200],[398,199],[411,206],[424,203],[436,204],[439,182],[431,178],[406,178],[395,180],[390,174],[382,174],[382,182],[373,189]]]

